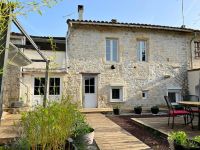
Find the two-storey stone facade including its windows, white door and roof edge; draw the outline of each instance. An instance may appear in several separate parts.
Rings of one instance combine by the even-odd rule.
[[[68,89],[83,107],[161,105],[164,95],[176,102],[188,93],[198,31],[116,20],[67,23]]]

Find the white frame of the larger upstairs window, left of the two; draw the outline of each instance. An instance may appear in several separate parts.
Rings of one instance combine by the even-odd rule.
[[[108,40],[109,40],[109,43],[110,43],[110,49],[109,49],[109,51],[110,51],[110,60],[107,60],[107,41]],[[114,53],[113,41],[114,40],[116,40],[116,42],[117,42],[117,50],[116,50],[116,52],[117,52],[117,54],[116,54],[117,60],[114,60],[114,55],[113,55],[113,53]],[[119,40],[117,38],[106,38],[106,61],[107,62],[119,62]]]

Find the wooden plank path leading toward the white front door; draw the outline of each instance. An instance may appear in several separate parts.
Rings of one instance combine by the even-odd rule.
[[[101,150],[150,149],[149,146],[101,113],[89,113],[86,114],[86,118],[88,123],[95,129],[95,141]]]

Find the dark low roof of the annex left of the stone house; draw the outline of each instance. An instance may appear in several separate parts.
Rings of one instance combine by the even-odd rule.
[[[23,36],[21,33],[11,32],[13,36]],[[53,39],[53,43],[56,44],[56,51],[65,51],[65,37],[45,37],[45,36],[33,36],[31,35],[33,41],[37,44],[40,50],[52,50],[52,44],[50,38]],[[31,43],[26,40],[26,47],[33,49]]]

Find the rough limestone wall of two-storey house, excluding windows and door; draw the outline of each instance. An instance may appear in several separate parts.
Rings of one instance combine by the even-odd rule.
[[[180,87],[183,92],[187,89],[191,38],[188,34],[89,25],[73,25],[69,31],[67,53],[71,84],[68,89],[80,102],[83,101],[81,72],[98,73],[98,107],[113,105],[110,103],[111,83],[123,83],[126,107],[163,104],[169,87]],[[119,62],[106,62],[106,38],[118,39]],[[148,42],[148,62],[137,61],[138,39]],[[111,69],[113,64],[114,70]],[[148,99],[142,99],[143,90],[148,90]]]

